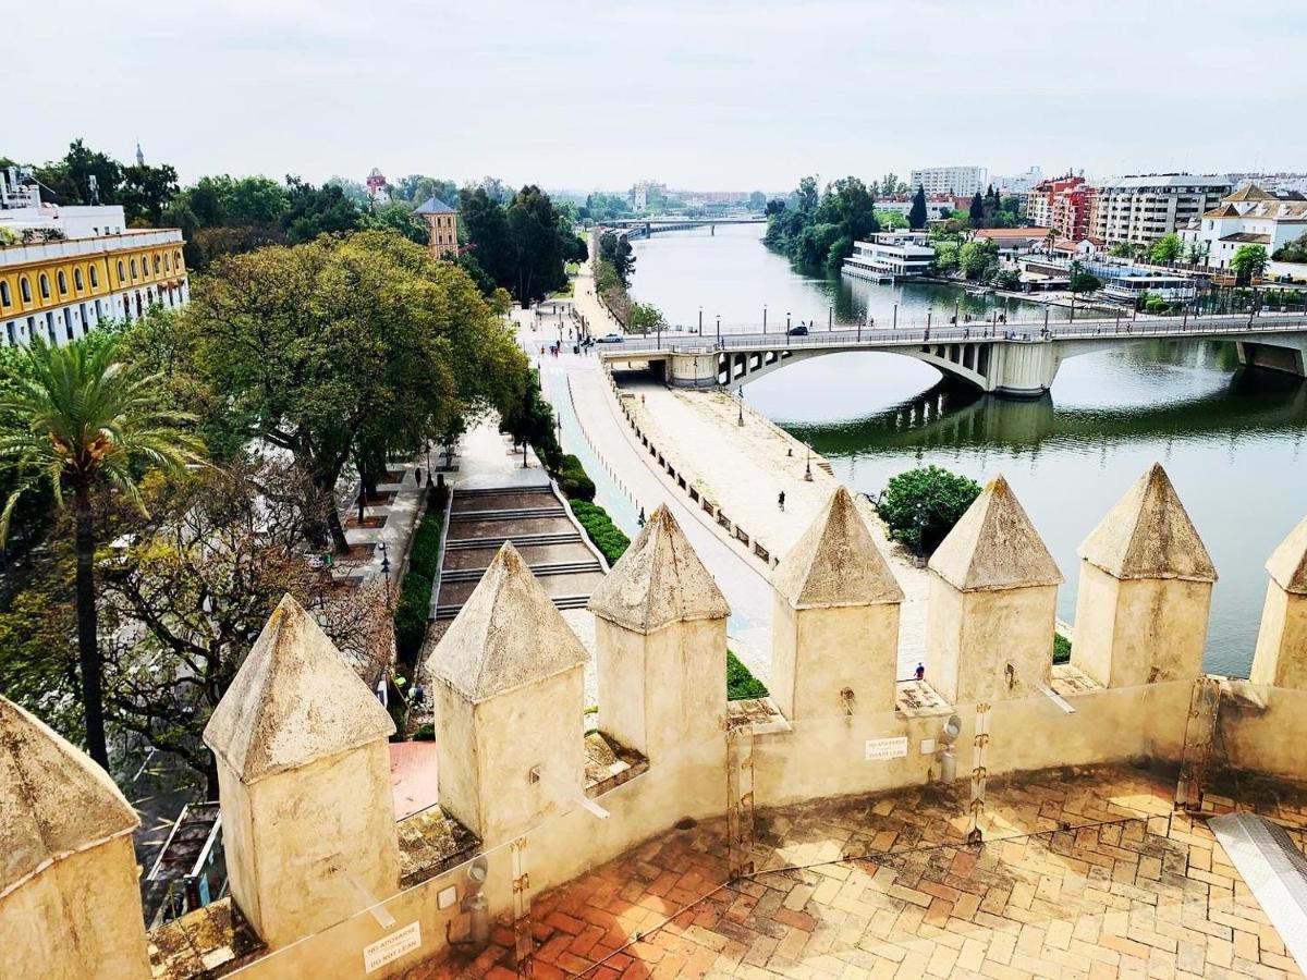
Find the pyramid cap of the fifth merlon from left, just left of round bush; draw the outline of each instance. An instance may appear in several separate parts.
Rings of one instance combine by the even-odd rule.
[[[776,566],[771,581],[796,609],[903,601],[903,589],[844,486]]]

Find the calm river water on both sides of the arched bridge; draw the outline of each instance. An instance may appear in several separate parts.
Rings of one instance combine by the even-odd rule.
[[[953,286],[876,285],[804,272],[761,242],[762,226],[667,233],[634,243],[633,294],[673,324],[704,333],[762,321],[901,323],[963,314],[995,299]],[[1009,319],[1043,307],[997,301]],[[1212,601],[1208,670],[1247,677],[1264,564],[1307,514],[1307,384],[1238,368],[1222,344],[1170,344],[1067,361],[1036,401],[978,396],[897,354],[801,361],[749,384],[745,400],[810,442],[850,486],[876,494],[895,473],[937,464],[978,482],[1002,473],[1067,576],[1059,615],[1076,609],[1077,545],[1153,461],[1197,525],[1221,580]]]

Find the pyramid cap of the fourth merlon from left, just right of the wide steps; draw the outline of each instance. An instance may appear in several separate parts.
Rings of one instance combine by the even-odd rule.
[[[639,537],[595,589],[588,609],[644,634],[677,622],[731,615],[727,597],[667,507],[650,515]]]

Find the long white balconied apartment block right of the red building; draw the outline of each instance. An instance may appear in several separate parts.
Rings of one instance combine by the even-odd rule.
[[[1097,188],[1090,234],[1108,247],[1151,244],[1221,203],[1230,179],[1218,175],[1146,174],[1104,180]]]

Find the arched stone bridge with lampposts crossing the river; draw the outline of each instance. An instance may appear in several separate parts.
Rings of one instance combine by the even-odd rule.
[[[1307,376],[1307,314],[1248,314],[1134,320],[1053,320],[924,329],[631,337],[600,348],[610,366],[647,363],[673,385],[735,389],[786,365],[823,354],[872,350],[903,354],[980,391],[1034,397],[1052,387],[1063,361],[1151,340],[1233,341],[1249,367]]]

